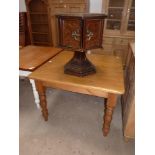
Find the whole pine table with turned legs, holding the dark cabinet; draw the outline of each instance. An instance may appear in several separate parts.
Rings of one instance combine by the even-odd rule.
[[[64,65],[73,52],[63,51],[29,75],[34,79],[38,90],[42,115],[48,120],[46,87],[60,88],[72,92],[107,98],[103,117],[103,135],[110,131],[112,115],[117,104],[118,94],[124,93],[122,63],[120,58],[89,54],[88,59],[96,65],[96,74],[77,77],[64,74]]]

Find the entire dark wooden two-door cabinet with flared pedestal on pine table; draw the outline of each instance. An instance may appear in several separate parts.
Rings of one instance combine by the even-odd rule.
[[[96,73],[85,52],[102,47],[105,17],[104,14],[92,13],[57,15],[59,46],[75,51],[74,57],[65,65],[66,74],[86,76]]]

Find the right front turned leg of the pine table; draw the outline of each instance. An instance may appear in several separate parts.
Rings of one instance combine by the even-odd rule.
[[[107,136],[110,130],[113,110],[117,102],[117,95],[108,94],[107,103],[105,103],[104,117],[103,117],[103,135]]]

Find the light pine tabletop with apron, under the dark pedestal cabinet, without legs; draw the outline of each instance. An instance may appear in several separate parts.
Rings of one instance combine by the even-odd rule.
[[[35,70],[29,78],[42,81],[44,86],[72,92],[107,97],[108,93],[123,94],[124,81],[120,58],[109,55],[88,54],[96,66],[96,74],[77,77],[64,74],[64,65],[73,52],[63,51],[46,64]]]

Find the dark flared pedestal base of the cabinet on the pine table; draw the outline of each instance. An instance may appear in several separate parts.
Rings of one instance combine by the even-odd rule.
[[[87,59],[85,52],[75,51],[73,58],[64,66],[64,73],[75,76],[86,76],[96,73],[96,69]]]

